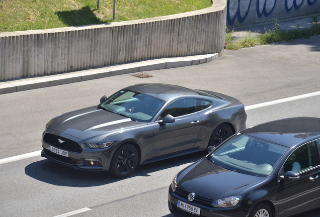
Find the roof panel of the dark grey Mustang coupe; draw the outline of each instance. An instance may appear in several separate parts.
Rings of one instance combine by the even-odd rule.
[[[165,101],[179,95],[200,95],[192,89],[185,87],[171,85],[171,84],[159,84],[159,83],[143,83],[135,84],[125,89],[145,93],[157,98],[161,98]]]

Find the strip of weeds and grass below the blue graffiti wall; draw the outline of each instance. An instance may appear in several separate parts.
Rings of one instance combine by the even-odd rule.
[[[235,33],[234,30],[227,30],[225,35],[225,49],[237,50],[246,47],[310,38],[311,36],[320,35],[320,23],[318,17],[314,15],[309,18],[309,22],[311,23],[310,28],[300,28],[297,26],[296,29],[283,30],[281,29],[278,20],[275,19],[274,22],[272,30],[266,30],[264,34],[256,37],[253,37],[249,31],[249,34],[246,35],[245,38],[239,40],[234,40],[232,38],[232,34]]]

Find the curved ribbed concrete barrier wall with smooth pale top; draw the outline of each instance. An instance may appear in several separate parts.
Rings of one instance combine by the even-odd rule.
[[[177,15],[0,33],[0,80],[164,57],[222,54],[226,0]]]

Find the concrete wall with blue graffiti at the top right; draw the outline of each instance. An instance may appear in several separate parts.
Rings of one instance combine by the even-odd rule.
[[[319,12],[319,0],[227,0],[227,27],[232,29]]]

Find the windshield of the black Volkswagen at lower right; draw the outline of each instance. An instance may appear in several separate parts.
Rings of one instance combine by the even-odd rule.
[[[288,148],[245,134],[237,134],[207,156],[220,167],[236,172],[270,175]]]

